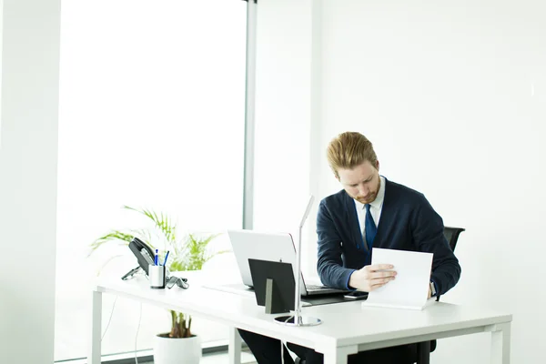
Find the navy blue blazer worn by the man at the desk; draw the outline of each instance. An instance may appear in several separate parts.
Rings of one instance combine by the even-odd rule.
[[[431,280],[443,295],[460,278],[459,260],[443,236],[443,221],[427,198],[385,178],[385,197],[375,248],[433,253]],[[371,263],[369,248],[359,227],[355,202],[345,190],[320,201],[317,217],[319,277],[325,285],[348,288],[355,269]]]

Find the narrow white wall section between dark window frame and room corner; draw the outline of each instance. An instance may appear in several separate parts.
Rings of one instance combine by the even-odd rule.
[[[254,229],[289,232],[296,242],[310,191],[310,4],[258,3]]]

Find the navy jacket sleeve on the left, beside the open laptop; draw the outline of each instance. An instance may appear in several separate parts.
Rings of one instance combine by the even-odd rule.
[[[341,238],[324,200],[317,216],[319,238],[317,270],[322,283],[331,288],[350,289],[349,278],[354,269],[343,268]]]

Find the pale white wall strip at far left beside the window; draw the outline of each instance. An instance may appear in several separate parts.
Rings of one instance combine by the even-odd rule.
[[[5,0],[2,12],[0,356],[6,363],[53,361],[59,7],[59,0]]]

